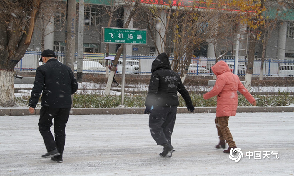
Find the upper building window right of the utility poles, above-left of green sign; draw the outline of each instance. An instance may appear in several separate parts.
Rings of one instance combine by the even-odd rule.
[[[100,8],[86,7],[85,8],[85,25],[96,26],[100,24]]]

